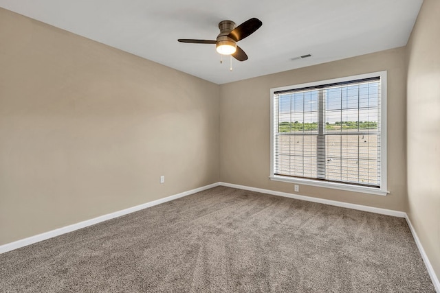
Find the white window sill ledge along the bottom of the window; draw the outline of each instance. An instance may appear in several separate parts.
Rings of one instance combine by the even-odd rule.
[[[354,192],[360,192],[362,194],[374,194],[376,196],[386,196],[386,194],[389,193],[389,191],[377,189],[374,187],[349,185],[349,184],[344,184],[344,183],[323,182],[323,181],[318,181],[318,180],[303,179],[303,178],[291,178],[291,177],[287,177],[287,176],[278,176],[278,175],[272,175],[269,178],[270,178],[270,180],[274,180],[274,181],[281,181],[281,182],[287,182],[287,183],[311,185],[311,186],[316,186],[316,187],[325,187],[325,188],[332,188],[332,189],[354,191]]]

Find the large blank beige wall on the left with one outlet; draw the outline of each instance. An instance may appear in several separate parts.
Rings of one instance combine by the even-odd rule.
[[[0,9],[0,245],[218,182],[218,107],[217,84]]]

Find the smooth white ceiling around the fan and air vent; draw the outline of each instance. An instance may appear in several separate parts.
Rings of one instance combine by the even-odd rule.
[[[0,0],[0,7],[217,84],[406,45],[423,0]],[[256,17],[244,62],[220,64],[219,21]],[[311,54],[310,58],[294,60]]]

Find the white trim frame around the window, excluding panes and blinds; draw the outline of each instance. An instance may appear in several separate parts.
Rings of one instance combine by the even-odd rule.
[[[301,89],[306,88],[309,86],[319,86],[323,84],[333,84],[338,82],[348,82],[351,80],[362,80],[366,78],[374,78],[374,77],[380,77],[381,82],[381,107],[380,107],[380,118],[381,118],[381,126],[380,126],[380,154],[381,154],[381,162],[380,162],[380,188],[377,187],[368,187],[368,186],[361,186],[361,185],[353,185],[350,183],[336,183],[331,181],[324,181],[319,179],[309,179],[309,178],[296,178],[296,177],[290,177],[290,176],[282,176],[282,175],[276,175],[275,173],[275,126],[276,126],[276,115],[274,113],[275,105],[274,105],[274,96],[275,93],[278,91],[288,91],[288,90],[294,90],[294,89]],[[387,123],[386,123],[386,93],[387,93],[387,72],[386,71],[377,71],[373,73],[364,73],[360,75],[351,75],[344,78],[334,78],[331,80],[320,80],[316,82],[307,82],[304,84],[294,84],[290,86],[282,86],[270,89],[270,180],[274,181],[281,181],[281,182],[287,182],[287,183],[296,183],[296,184],[302,184],[302,185],[311,185],[315,187],[325,187],[325,188],[331,188],[331,189],[341,189],[346,191],[355,191],[360,192],[364,194],[375,194],[379,196],[386,196],[386,194],[389,193],[387,189]]]

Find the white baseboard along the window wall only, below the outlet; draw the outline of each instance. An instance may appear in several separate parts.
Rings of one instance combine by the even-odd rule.
[[[336,200],[325,200],[322,198],[312,198],[311,196],[301,196],[299,194],[288,194],[287,192],[273,191],[273,190],[269,190],[269,189],[261,189],[261,188],[248,187],[248,186],[223,183],[223,182],[220,182],[219,185],[225,186],[225,187],[232,187],[232,188],[238,188],[238,189],[245,189],[245,190],[249,190],[249,191],[261,192],[262,194],[272,194],[274,196],[283,196],[285,198],[294,198],[296,200],[305,200],[307,202],[318,202],[320,204],[329,204],[329,205],[333,205],[336,207],[345,207],[348,209],[357,209],[359,211],[369,211],[371,213],[380,213],[382,215],[393,215],[394,217],[406,218],[406,213],[404,213],[403,211],[394,211],[392,209],[381,209],[378,207],[368,207],[368,206],[364,206],[361,204],[351,204],[348,202],[338,202]]]

